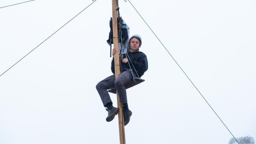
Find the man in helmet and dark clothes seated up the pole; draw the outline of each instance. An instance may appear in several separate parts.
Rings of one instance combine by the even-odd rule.
[[[133,35],[128,42],[128,47],[130,47],[130,52],[127,53],[128,57],[124,55],[124,58],[122,59],[122,71],[117,79],[115,79],[115,75],[112,75],[103,79],[96,85],[102,103],[108,111],[108,116],[106,118],[107,122],[113,120],[115,115],[119,112],[119,108],[113,107],[113,102],[111,101],[107,90],[114,87],[117,89],[120,103],[122,103],[123,106],[124,126],[130,122],[130,116],[132,116],[132,111],[128,108],[126,88],[124,86],[131,81],[134,76],[140,78],[148,69],[147,56],[143,52],[139,52],[139,48],[141,47],[141,37],[139,35]],[[113,57],[115,53],[117,53],[116,48],[112,50]],[[115,74],[114,59],[111,61],[111,71]]]

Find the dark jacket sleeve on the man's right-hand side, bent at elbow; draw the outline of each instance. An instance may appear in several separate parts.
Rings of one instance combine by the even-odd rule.
[[[148,59],[145,54],[141,55],[138,61],[134,61],[134,59],[131,59],[131,61],[136,70],[139,70],[142,73],[148,70]]]

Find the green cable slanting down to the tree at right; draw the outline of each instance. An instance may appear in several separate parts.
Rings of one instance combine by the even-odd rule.
[[[128,0],[130,2],[130,0]],[[132,3],[130,2],[130,4],[132,5]],[[134,7],[132,5],[132,7]],[[135,9],[135,7],[134,7]],[[135,11],[139,14],[139,12],[137,11],[137,9],[135,9]],[[141,15],[139,14],[139,16],[141,17]],[[147,24],[147,22],[144,20],[143,17],[141,17],[142,20]],[[148,24],[147,24],[148,26]],[[152,31],[152,33],[154,33],[154,31],[150,28],[150,26],[148,26],[148,28]],[[156,34],[154,33],[154,35],[156,36]],[[156,38],[158,39],[158,37],[156,36]],[[160,39],[158,39],[158,41],[163,45],[163,43],[160,41]],[[163,47],[165,48],[165,46],[163,45]],[[177,61],[174,59],[174,57],[170,54],[170,52],[167,50],[167,48],[165,48],[165,50],[169,53],[169,55],[173,58],[173,60],[175,61],[175,63],[180,67],[180,65],[177,63]],[[187,74],[184,72],[184,70],[180,67],[180,69],[182,70],[182,72],[186,75],[186,77],[189,79],[189,81],[193,84],[193,86],[195,87],[195,89],[197,89],[197,87],[194,85],[194,83],[190,80],[190,78],[187,76]],[[204,98],[204,96],[201,94],[201,92],[197,89],[197,91],[199,92],[199,94],[202,96],[202,98]],[[218,114],[213,110],[213,108],[211,107],[211,105],[207,102],[207,100],[204,98],[205,102],[210,106],[210,108],[212,109],[212,111],[216,114],[216,116],[219,118],[219,120],[221,120],[221,118],[218,116]],[[226,127],[226,125],[224,124],[224,122],[221,120],[221,122],[223,123],[223,125]],[[226,127],[226,129],[228,129],[228,127]],[[228,131],[230,132],[230,134],[234,137],[234,135],[231,133],[231,131],[228,129]],[[235,138],[235,137],[234,137]],[[236,138],[235,138],[236,139]],[[236,139],[237,141],[237,139]],[[237,143],[239,144],[239,142],[237,141]]]

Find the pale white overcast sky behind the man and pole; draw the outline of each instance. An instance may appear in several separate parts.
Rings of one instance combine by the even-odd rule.
[[[1,0],[0,7],[24,2]],[[0,9],[0,73],[91,0],[35,0]],[[131,0],[235,137],[256,138],[256,1]],[[232,135],[129,2],[146,81],[127,90],[127,144],[228,144]],[[111,75],[111,0],[97,0],[0,77],[0,144],[118,144],[118,118],[95,89]],[[111,94],[116,106],[116,96]]]

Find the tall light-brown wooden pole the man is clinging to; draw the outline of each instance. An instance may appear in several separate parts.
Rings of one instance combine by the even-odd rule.
[[[117,26],[117,0],[112,0],[112,23],[113,23],[113,45],[117,49],[117,53],[114,55],[115,61],[115,78],[120,75],[120,58],[119,58],[119,43],[118,43],[118,26]],[[122,113],[122,103],[119,102],[119,96],[117,93],[117,106],[119,108],[118,123],[119,123],[119,138],[120,144],[125,144],[124,133],[124,116]]]

